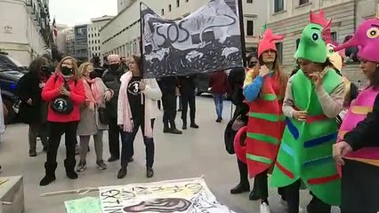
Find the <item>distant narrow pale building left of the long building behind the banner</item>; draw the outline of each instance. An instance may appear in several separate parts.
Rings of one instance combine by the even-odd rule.
[[[88,25],[88,59],[93,58],[93,56],[101,56],[100,29],[113,18],[113,16],[103,16],[91,19],[92,23]]]

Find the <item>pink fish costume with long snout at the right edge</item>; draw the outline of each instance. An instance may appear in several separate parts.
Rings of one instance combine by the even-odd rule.
[[[358,56],[360,59],[379,63],[379,17],[365,20],[357,28],[355,35],[347,43],[335,47],[335,51],[340,51],[351,46],[359,46]],[[364,120],[368,113],[373,110],[375,97],[379,94],[379,88],[367,87],[359,93],[357,99],[351,103],[342,126],[338,133],[337,142],[343,140],[344,134],[353,130],[358,122]],[[356,152],[347,154],[347,158],[359,162],[375,164],[379,160],[379,148],[367,147]],[[377,164],[377,163],[376,163]],[[341,170],[339,168],[340,174]]]

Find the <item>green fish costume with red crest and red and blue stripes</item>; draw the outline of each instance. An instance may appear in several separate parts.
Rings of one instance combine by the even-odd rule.
[[[316,63],[327,60],[327,45],[323,40],[324,28],[330,26],[324,12],[310,12],[310,24],[303,29],[295,59]],[[340,75],[330,68],[323,77],[322,87],[331,94],[342,83]],[[305,122],[286,119],[278,159],[271,177],[271,185],[284,187],[301,179],[321,201],[331,206],[341,202],[341,179],[332,156],[337,138],[335,118],[322,111],[315,85],[302,70],[292,77],[291,90],[294,109],[308,112]]]

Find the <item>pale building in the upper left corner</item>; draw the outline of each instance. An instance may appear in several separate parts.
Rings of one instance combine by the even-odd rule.
[[[23,66],[49,50],[48,0],[0,0],[0,50]]]

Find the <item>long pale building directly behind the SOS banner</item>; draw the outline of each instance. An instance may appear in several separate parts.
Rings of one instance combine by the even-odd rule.
[[[112,53],[130,57],[140,51],[140,0],[117,0],[118,14],[101,28],[101,55]],[[254,51],[267,18],[267,3],[241,0],[244,12],[246,50]],[[177,19],[195,12],[209,0],[145,0],[152,10],[166,19]]]

